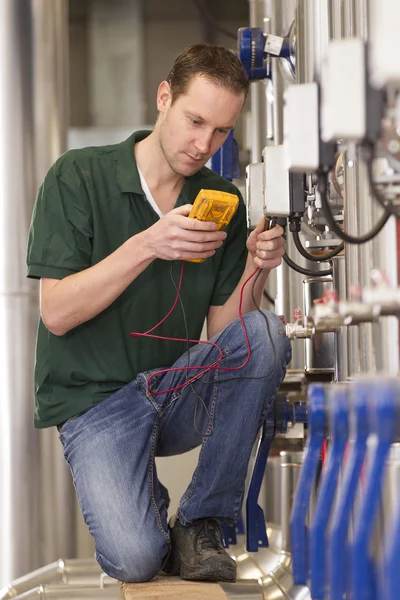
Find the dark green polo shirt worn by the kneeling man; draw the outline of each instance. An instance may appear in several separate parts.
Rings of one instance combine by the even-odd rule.
[[[128,238],[151,227],[158,215],[140,184],[133,152],[136,132],[112,146],[71,150],[46,175],[29,232],[28,277],[63,279],[97,264]],[[176,206],[193,203],[202,188],[239,194],[207,168],[188,177]],[[246,261],[246,211],[239,209],[228,237],[204,263],[185,263],[181,297],[190,339],[199,339],[210,305],[222,305],[235,289]],[[181,263],[174,261],[179,279]],[[138,373],[171,366],[186,343],[133,338],[169,311],[176,296],[171,262],[154,260],[101,314],[63,336],[39,320],[35,366],[35,427],[66,421],[107,398]],[[107,285],[107,282],[104,283]],[[154,333],[186,338],[178,303]]]

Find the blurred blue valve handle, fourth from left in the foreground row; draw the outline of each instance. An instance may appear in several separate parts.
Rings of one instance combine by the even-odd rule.
[[[374,600],[375,581],[369,555],[369,544],[379,508],[386,458],[394,439],[396,427],[396,389],[394,385],[382,380],[379,387],[375,382],[371,382],[371,387],[372,393],[368,397],[368,420],[370,430],[377,434],[378,442],[369,464],[364,498],[357,514],[353,542],[350,547],[352,600]],[[393,598],[395,597],[397,595]]]

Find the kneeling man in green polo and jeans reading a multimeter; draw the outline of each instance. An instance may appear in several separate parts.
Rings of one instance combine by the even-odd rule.
[[[246,242],[242,199],[226,232],[188,214],[200,189],[239,194],[204,165],[235,126],[248,85],[230,51],[187,48],[159,86],[153,132],[67,152],[35,205],[27,259],[41,290],[35,426],[58,427],[97,560],[120,581],[147,581],[162,568],[236,578],[219,523],[239,515],[251,448],[290,360],[279,318],[255,310],[251,283],[242,302],[246,362],[239,297],[259,267],[260,301],[284,242],[282,229],[264,231],[263,222]],[[182,261],[199,257],[185,262],[183,309],[153,333],[196,340],[207,317],[220,366],[236,370],[210,370],[189,385],[199,371],[182,368],[212,365],[214,346],[188,351],[185,342],[129,334],[163,319]],[[200,444],[169,528],[154,457]]]

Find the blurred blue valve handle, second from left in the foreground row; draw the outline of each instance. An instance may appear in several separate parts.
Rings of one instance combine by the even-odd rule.
[[[332,412],[332,443],[319,484],[314,519],[310,527],[310,591],[313,600],[324,600],[325,597],[325,532],[349,437],[349,403],[345,386],[332,387],[329,400]]]

